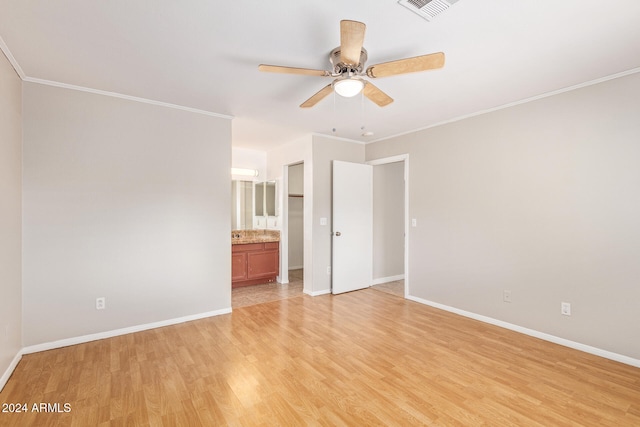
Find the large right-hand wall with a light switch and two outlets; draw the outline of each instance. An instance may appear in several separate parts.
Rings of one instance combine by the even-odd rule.
[[[411,295],[640,359],[638,117],[632,74],[368,145],[411,156]]]

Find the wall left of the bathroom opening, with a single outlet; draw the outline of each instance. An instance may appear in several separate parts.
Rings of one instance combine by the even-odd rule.
[[[25,83],[23,122],[24,345],[230,308],[230,120]]]

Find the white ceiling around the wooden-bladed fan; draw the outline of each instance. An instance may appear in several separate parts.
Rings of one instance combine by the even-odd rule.
[[[367,24],[367,65],[442,51],[445,67],[377,79],[384,108],[331,95],[303,110],[331,80],[258,64],[329,69],[341,19]],[[373,141],[634,70],[639,22],[638,0],[460,0],[432,22],[396,0],[0,0],[0,46],[25,80],[230,115],[234,147],[267,150]]]

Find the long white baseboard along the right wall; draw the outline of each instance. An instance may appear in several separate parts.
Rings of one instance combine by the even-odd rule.
[[[492,325],[499,326],[501,328],[510,329],[515,332],[520,332],[521,334],[529,335],[535,338],[539,338],[541,340],[549,341],[554,344],[560,344],[565,347],[573,348],[575,350],[580,350],[585,353],[593,354],[596,356],[604,357],[605,359],[614,360],[616,362],[624,363],[626,365],[635,366],[640,368],[640,359],[634,359],[633,357],[625,356],[623,354],[614,353],[608,350],[603,350],[601,348],[592,347],[590,345],[582,344],[579,342],[571,341],[565,338],[556,337],[555,335],[550,335],[544,332],[536,331],[534,329],[525,328],[522,326],[514,325],[512,323],[504,322],[502,320],[494,319],[492,317],[483,316],[481,314],[472,313],[470,311],[460,310],[459,308],[450,307],[448,305],[440,304],[437,302],[429,301],[426,299],[414,297],[411,295],[407,296],[407,299],[411,301],[418,302],[420,304],[425,304],[434,308],[439,308],[441,310],[445,310],[451,313],[459,314],[460,316],[469,317],[474,320],[479,320],[481,322],[489,323]]]

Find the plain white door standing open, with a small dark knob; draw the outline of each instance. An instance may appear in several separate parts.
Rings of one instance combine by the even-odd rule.
[[[373,167],[333,161],[332,292],[371,286]]]

